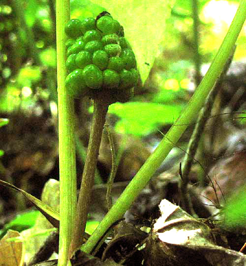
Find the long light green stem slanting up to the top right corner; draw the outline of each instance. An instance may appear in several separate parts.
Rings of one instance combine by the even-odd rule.
[[[170,150],[180,139],[187,126],[197,117],[199,110],[204,105],[207,95],[213,88],[216,79],[219,77],[224,64],[232,53],[234,44],[243,27],[246,19],[246,0],[242,0],[233,22],[228,30],[215,59],[213,60],[204,79],[191,97],[188,106],[167,132],[154,153],[148,158],[145,164],[138,171],[136,176],[131,180],[128,186],[123,191],[120,198],[113,205],[110,211],[106,214],[99,226],[96,228],[92,236],[82,246],[82,250],[90,253],[103,236],[104,232],[117,220],[123,217],[125,211],[131,206],[135,198],[141,190],[150,181],[154,172],[159,168],[163,160],[166,158]],[[169,141],[171,140],[171,142]]]

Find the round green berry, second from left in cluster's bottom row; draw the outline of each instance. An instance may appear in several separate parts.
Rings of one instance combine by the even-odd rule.
[[[100,89],[102,87],[102,71],[93,64],[87,65],[83,69],[83,77],[86,85],[91,89]]]

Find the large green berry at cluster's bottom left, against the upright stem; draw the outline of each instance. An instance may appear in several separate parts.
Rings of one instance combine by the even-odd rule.
[[[70,74],[68,74],[66,77],[65,84],[68,93],[72,97],[75,97],[88,89],[83,78],[82,69],[76,69]]]

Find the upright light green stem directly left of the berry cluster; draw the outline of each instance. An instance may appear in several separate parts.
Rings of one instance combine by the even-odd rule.
[[[64,25],[69,20],[69,0],[57,0],[57,83],[59,112],[59,168],[60,168],[60,236],[58,266],[66,266],[68,249],[74,229],[76,213],[76,165],[74,143],[74,101],[67,94],[66,35]]]

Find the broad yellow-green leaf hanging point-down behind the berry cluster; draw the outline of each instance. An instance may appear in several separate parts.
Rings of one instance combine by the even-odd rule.
[[[170,16],[174,0],[93,0],[103,6],[124,28],[124,34],[135,53],[143,83],[163,40],[165,20]]]

